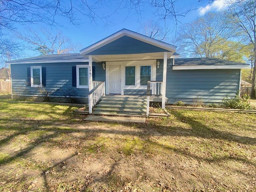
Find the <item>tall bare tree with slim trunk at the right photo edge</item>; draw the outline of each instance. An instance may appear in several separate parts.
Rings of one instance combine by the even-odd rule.
[[[242,29],[250,43],[253,45],[254,68],[252,76],[251,97],[256,97],[256,1],[240,0],[230,4],[230,11],[233,13],[232,21],[235,26]]]

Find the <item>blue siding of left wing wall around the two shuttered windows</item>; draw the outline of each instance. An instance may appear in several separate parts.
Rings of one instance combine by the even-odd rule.
[[[12,93],[19,95],[41,95],[40,88],[28,86],[26,81],[28,67],[42,66],[46,68],[46,86],[44,90],[51,91],[52,96],[88,97],[88,89],[72,86],[72,66],[83,64],[88,64],[88,62],[12,64]],[[102,68],[102,63],[93,63],[93,66],[95,66],[95,80],[105,81],[106,75]]]

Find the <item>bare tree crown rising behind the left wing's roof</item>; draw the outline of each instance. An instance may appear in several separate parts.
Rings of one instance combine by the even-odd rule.
[[[41,55],[72,53],[81,48],[79,44],[76,44],[76,46],[72,44],[70,39],[63,36],[60,31],[57,34],[42,28],[40,28],[40,31],[42,36],[29,29],[29,34],[17,33],[17,37],[27,42],[30,50],[36,50]]]

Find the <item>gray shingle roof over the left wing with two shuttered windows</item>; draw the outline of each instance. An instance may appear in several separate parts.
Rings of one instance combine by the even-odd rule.
[[[50,63],[50,62],[69,62],[69,61],[88,61],[88,58],[85,56],[80,55],[79,53],[72,53],[72,54],[52,54],[52,55],[42,55],[37,57],[30,57],[25,59],[18,59],[9,61],[6,63],[9,64],[16,64],[16,63]]]

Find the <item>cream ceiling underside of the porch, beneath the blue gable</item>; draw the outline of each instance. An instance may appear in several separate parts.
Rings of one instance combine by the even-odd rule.
[[[171,58],[173,52],[167,52],[167,58]],[[164,52],[142,53],[142,54],[118,54],[118,55],[92,55],[94,62],[106,61],[132,61],[132,60],[152,60],[164,59]]]

